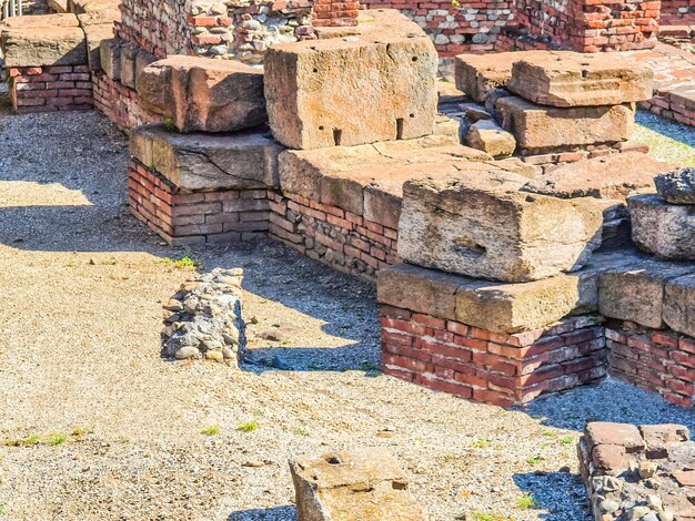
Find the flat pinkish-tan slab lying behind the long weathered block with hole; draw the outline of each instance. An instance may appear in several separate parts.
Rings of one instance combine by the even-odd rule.
[[[612,154],[548,170],[523,190],[555,197],[624,200],[653,191],[654,176],[671,168],[669,164],[646,154]]]

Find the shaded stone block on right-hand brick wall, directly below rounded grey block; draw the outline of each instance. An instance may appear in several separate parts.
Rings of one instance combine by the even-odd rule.
[[[635,256],[632,266],[608,268],[601,275],[598,309],[602,315],[661,329],[666,284],[695,273],[692,263],[679,264]]]

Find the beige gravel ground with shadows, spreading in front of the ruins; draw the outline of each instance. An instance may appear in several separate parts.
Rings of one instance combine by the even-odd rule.
[[[433,519],[587,520],[587,419],[695,429],[617,381],[504,411],[380,375],[372,287],[273,243],[167,247],[129,216],[99,115],[0,115],[0,517],[292,520],[289,457],[382,446]],[[255,364],[160,357],[187,255],[245,268]]]

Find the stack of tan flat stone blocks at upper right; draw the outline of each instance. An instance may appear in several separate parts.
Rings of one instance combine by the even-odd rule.
[[[517,153],[537,156],[528,160],[535,163],[556,153],[566,161],[624,149],[634,103],[652,98],[652,75],[616,55],[527,51],[456,57],[457,88],[484,104],[477,113],[494,118],[513,134]],[[469,144],[473,140],[469,133]]]

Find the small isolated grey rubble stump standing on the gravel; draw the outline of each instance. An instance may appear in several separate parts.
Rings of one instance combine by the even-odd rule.
[[[164,309],[163,355],[239,364],[245,344],[241,269],[216,268],[183,283]]]

